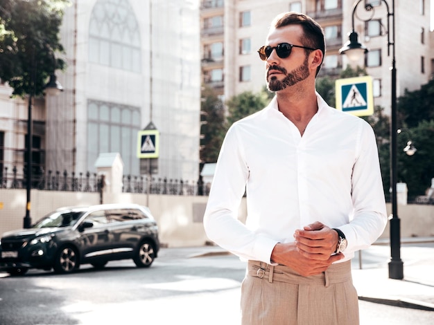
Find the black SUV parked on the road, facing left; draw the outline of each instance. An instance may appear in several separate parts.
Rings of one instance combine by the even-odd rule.
[[[83,263],[103,268],[107,261],[118,259],[133,259],[137,267],[148,268],[158,250],[158,226],[147,207],[64,207],[32,228],[3,234],[0,268],[10,275],[29,268],[69,273]]]

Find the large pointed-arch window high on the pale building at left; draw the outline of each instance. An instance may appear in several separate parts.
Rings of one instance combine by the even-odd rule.
[[[89,61],[141,72],[139,24],[128,0],[98,0],[89,21]]]

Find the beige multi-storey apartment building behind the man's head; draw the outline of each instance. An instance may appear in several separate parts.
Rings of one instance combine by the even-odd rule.
[[[243,91],[259,91],[266,83],[264,64],[257,49],[266,40],[272,18],[288,10],[304,12],[324,28],[327,53],[320,76],[338,76],[342,68],[351,64],[345,55],[339,54],[339,49],[351,31],[356,2],[202,0],[202,83],[215,87],[226,99]],[[392,0],[358,2],[354,28],[359,41],[369,49],[358,65],[365,66],[367,73],[374,78],[374,104],[383,106],[385,112],[390,113],[392,46],[388,46],[387,33],[392,37],[393,29],[390,22],[388,30],[387,7],[392,12]],[[430,32],[430,0],[394,2],[397,95],[400,96],[405,89],[419,89],[431,79],[433,32]],[[368,4],[372,10],[365,10]],[[215,31],[212,35],[207,32],[210,26]],[[335,103],[330,104],[334,106]]]

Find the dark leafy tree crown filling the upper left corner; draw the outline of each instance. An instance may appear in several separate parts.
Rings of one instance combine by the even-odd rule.
[[[56,69],[63,69],[60,25],[67,0],[2,0],[0,4],[0,78],[12,95],[41,95]]]

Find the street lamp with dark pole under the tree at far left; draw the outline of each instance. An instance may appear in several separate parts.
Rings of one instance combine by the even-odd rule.
[[[32,79],[35,77],[35,71],[32,71]],[[32,84],[34,84],[34,79],[31,80]],[[60,91],[63,91],[62,85],[57,81],[55,74],[52,73],[50,75],[50,80],[48,84],[45,85],[46,93],[49,95],[58,95]],[[31,228],[32,219],[30,216],[31,210],[31,188],[32,188],[32,165],[33,165],[33,157],[32,157],[32,149],[33,149],[33,120],[32,120],[32,100],[34,97],[33,89],[28,94],[28,108],[27,108],[27,169],[26,169],[26,216],[24,216],[24,228]]]

